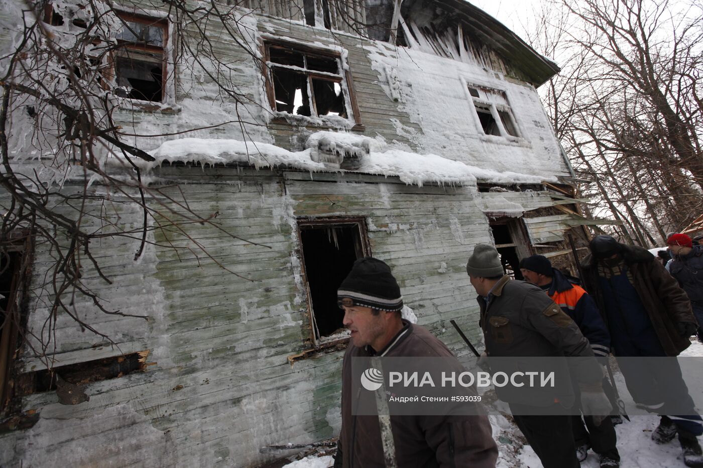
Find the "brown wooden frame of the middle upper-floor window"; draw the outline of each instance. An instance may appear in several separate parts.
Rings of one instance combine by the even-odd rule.
[[[317,115],[317,109],[316,109],[316,104],[315,104],[315,96],[314,96],[314,91],[313,91],[313,84],[312,80],[313,79],[321,79],[323,81],[327,82],[337,82],[341,83],[344,82],[346,84],[346,88],[348,93],[344,92],[344,86],[342,87],[342,93],[344,93],[344,98],[345,98],[345,106],[347,104],[347,100],[349,102],[349,108],[347,108],[347,119],[350,119],[354,121],[354,126],[352,126],[352,130],[363,130],[364,126],[361,123],[361,117],[359,113],[359,105],[356,103],[356,92],[354,91],[354,79],[352,79],[352,72],[349,70],[349,67],[345,67],[344,65],[344,60],[342,59],[342,54],[337,51],[330,51],[329,49],[325,48],[316,48],[316,47],[311,47],[307,46],[304,44],[296,44],[296,43],[291,43],[288,41],[281,41],[278,39],[269,39],[269,38],[264,38],[263,44],[262,44],[262,56],[264,57],[264,60],[262,60],[262,73],[264,74],[264,79],[266,80],[266,97],[269,100],[269,108],[271,108],[272,112],[281,112],[276,110],[276,93],[273,89],[273,77],[272,77],[272,70],[274,67],[276,67],[276,64],[271,63],[271,53],[270,49],[271,47],[273,48],[282,48],[282,49],[287,49],[289,51],[296,51],[299,53],[302,53],[304,55],[309,55],[309,56],[318,56],[321,58],[333,58],[337,60],[337,65],[339,66],[339,70],[341,72],[337,75],[339,77],[338,80],[333,79],[334,77],[330,76],[329,73],[316,73],[314,70],[296,70],[299,73],[305,74],[307,77],[307,84],[308,84],[308,91],[309,91],[309,100],[311,103],[311,117],[318,118],[318,119],[325,119],[324,115]],[[271,65],[269,65],[271,64]],[[283,70],[290,70],[290,68],[286,67],[283,65],[281,67]],[[315,110],[315,115],[312,115],[312,110]],[[282,112],[282,113],[288,113],[288,112]],[[295,117],[295,114],[290,114]],[[275,117],[273,119],[274,122],[276,123],[285,123],[287,122],[284,117]],[[322,128],[330,128],[331,125],[318,125]]]

